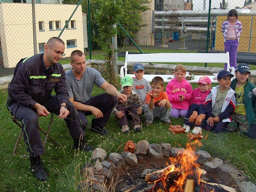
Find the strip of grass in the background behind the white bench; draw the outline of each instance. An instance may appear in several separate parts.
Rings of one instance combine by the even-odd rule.
[[[147,49],[147,48],[141,48],[141,50],[143,51],[143,53],[191,53],[192,52],[192,51],[187,51],[187,50],[165,50],[165,49]],[[138,49],[136,49],[132,46],[128,46],[128,47],[125,47],[125,48],[118,48],[118,51],[140,52]],[[89,52],[86,53],[86,59],[89,59]],[[92,59],[103,60],[104,59],[104,53],[94,52],[92,54]],[[63,60],[63,61],[65,61],[65,60]],[[125,61],[125,57],[118,57],[118,61]],[[69,63],[69,61],[67,63]],[[172,65],[183,64],[185,66],[200,66],[200,67],[205,66],[205,63],[164,63],[164,64],[172,64]],[[251,70],[256,70],[256,65],[250,65],[249,64],[249,66],[250,66]],[[221,63],[207,63],[207,67],[224,68],[224,65],[221,64]]]

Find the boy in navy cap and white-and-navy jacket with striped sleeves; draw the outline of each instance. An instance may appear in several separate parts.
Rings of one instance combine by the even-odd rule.
[[[220,71],[217,76],[219,85],[213,87],[204,102],[204,114],[207,119],[205,129],[214,132],[226,132],[228,122],[236,108],[235,91],[230,88],[233,77],[226,70]],[[224,127],[224,128],[223,128]]]

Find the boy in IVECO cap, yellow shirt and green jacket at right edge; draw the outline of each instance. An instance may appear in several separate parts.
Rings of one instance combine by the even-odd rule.
[[[235,69],[235,76],[230,87],[236,92],[236,109],[232,114],[231,123],[228,123],[227,128],[241,133],[247,132],[256,118],[256,96],[253,94],[253,89],[256,87],[252,84],[248,76],[251,74],[250,67],[241,63]]]

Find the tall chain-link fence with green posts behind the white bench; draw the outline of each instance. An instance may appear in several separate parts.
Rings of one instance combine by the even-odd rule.
[[[78,0],[36,0],[34,10],[31,0],[0,3],[0,66],[13,68],[21,58],[44,52],[47,40],[52,36],[59,36],[67,22],[60,36],[66,46],[66,58],[61,62],[69,63],[68,57],[75,49],[84,50],[86,59],[89,59],[90,33],[91,58],[103,60],[104,52],[96,41],[100,36],[94,20],[97,3],[96,0],[90,2],[91,31],[88,30],[88,1],[85,0],[81,4],[79,2],[78,6]],[[256,63],[256,2],[212,0],[208,39],[209,0],[137,2],[137,7],[146,5],[146,11],[140,13],[140,18],[137,18],[135,5],[124,0],[123,7],[127,14],[119,23],[142,52],[224,52],[221,26],[223,21],[227,20],[228,11],[236,9],[238,20],[243,26],[237,62]],[[74,10],[76,11],[70,18]],[[130,20],[130,23],[126,19]],[[118,25],[117,50],[119,61],[124,61],[125,51],[140,52]]]

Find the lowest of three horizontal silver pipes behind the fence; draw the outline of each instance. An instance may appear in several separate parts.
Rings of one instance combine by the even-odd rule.
[[[164,26],[164,31],[181,31],[182,27]],[[155,26],[156,31],[162,31],[162,26]],[[183,27],[183,32],[187,33],[207,33],[207,27]],[[212,34],[215,34],[215,29],[212,27]]]

